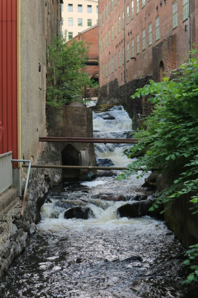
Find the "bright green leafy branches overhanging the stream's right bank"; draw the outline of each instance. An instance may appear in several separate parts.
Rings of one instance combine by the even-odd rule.
[[[191,195],[192,214],[198,212],[198,58],[197,50],[191,52],[189,63],[181,66],[177,79],[164,78],[163,82],[150,84],[137,92],[132,98],[150,96],[148,101],[155,103],[155,110],[147,118],[147,133],[142,131],[143,139],[130,149],[128,157],[145,153],[128,165],[127,171],[118,176],[137,173],[143,168],[142,176],[151,168],[157,172],[177,173],[177,179],[172,185],[159,193],[157,201],[150,208],[158,208],[159,204],[172,202],[183,194]],[[140,131],[134,137],[140,137]],[[139,178],[139,176],[137,176]],[[190,254],[184,264],[190,264],[191,259],[198,255],[198,245],[191,246]],[[190,274],[187,283],[197,281],[198,266]]]

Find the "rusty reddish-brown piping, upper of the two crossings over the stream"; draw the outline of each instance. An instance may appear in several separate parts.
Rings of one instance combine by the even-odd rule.
[[[104,143],[104,144],[134,144],[140,139],[115,138],[74,138],[61,136],[40,137],[39,142],[69,142],[69,143]]]

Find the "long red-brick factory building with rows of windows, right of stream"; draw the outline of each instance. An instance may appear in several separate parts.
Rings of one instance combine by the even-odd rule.
[[[169,76],[187,61],[193,44],[197,0],[99,1],[101,99],[126,101],[148,79],[160,81],[164,71]]]

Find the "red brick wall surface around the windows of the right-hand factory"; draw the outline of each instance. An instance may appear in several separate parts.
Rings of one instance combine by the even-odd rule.
[[[176,69],[181,63],[188,59],[188,20],[183,21],[182,0],[177,0],[177,19],[178,25],[172,29],[172,3],[174,1],[145,0],[145,6],[142,7],[142,0],[139,0],[139,13],[136,14],[136,3],[134,0],[134,18],[131,19],[131,0],[125,0],[125,34],[122,29],[122,12],[123,1],[113,1],[113,10],[108,14],[108,0],[99,1],[99,44],[104,49],[100,53],[100,87],[115,80],[118,84],[123,85],[124,71],[126,70],[126,83],[136,78],[146,75],[153,75],[159,80],[159,63],[162,61],[164,70],[170,75],[172,69]],[[107,18],[105,18],[105,6],[107,4]],[[126,7],[129,5],[129,23],[126,24]],[[158,7],[158,9],[156,8]],[[104,9],[104,22],[100,25],[100,14]],[[118,33],[118,17],[121,16],[121,32]],[[160,38],[156,41],[156,17],[159,16]],[[103,20],[102,20],[103,21]],[[117,22],[117,34],[115,37],[115,21]],[[148,24],[152,22],[152,44],[148,46]],[[113,41],[111,41],[111,26],[113,25]],[[145,28],[145,49],[142,50],[142,29]],[[108,31],[110,29],[110,44],[108,44]],[[193,43],[198,44],[198,1],[191,0],[190,9],[190,29],[191,29],[191,46]],[[140,37],[140,53],[136,51],[136,37],[139,33]],[[105,34],[107,34],[107,47],[105,45]],[[125,36],[124,36],[125,35]],[[131,40],[134,38],[134,59],[131,51]],[[125,40],[125,68],[122,63],[122,48]],[[126,47],[129,42],[129,60],[126,59]],[[118,67],[118,51],[121,50],[121,67]],[[115,54],[117,53],[117,70],[115,70]],[[113,72],[106,73],[103,77],[103,69],[105,72],[105,64],[114,58]],[[110,62],[111,66],[111,62]],[[104,68],[103,68],[104,67]]]

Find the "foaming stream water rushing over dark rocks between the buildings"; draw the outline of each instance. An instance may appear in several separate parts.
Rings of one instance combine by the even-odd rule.
[[[129,137],[132,130],[121,106],[93,112],[93,124],[95,137]],[[129,159],[122,154],[127,148],[97,144],[97,161],[126,166]],[[164,222],[118,217],[118,207],[152,191],[141,187],[144,178],[120,182],[116,173],[66,181],[50,190],[37,233],[3,278],[0,297],[197,297],[197,287],[181,285],[184,249]],[[93,216],[64,219],[73,206],[89,207]]]

